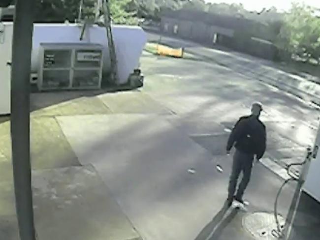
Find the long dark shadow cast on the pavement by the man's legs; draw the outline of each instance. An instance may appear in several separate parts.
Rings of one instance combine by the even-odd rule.
[[[224,203],[223,208],[217,213],[216,216],[209,222],[198,234],[195,240],[217,240],[221,236],[223,230],[236,216],[238,210],[232,209],[229,214],[226,215],[230,207],[227,206],[227,202]]]

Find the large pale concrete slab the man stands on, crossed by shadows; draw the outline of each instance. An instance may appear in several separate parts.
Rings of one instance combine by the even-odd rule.
[[[143,239],[196,239],[223,205],[231,158],[212,155],[187,132],[160,116],[125,114],[58,120],[79,161],[95,166]],[[224,143],[221,136],[217,140]],[[216,170],[217,164],[223,173]],[[194,174],[188,173],[191,168]],[[245,214],[272,213],[270,203],[281,182],[270,170],[256,166],[246,195],[252,205],[248,213],[237,214],[237,229],[242,229]],[[292,194],[293,189],[288,188],[282,196],[282,214],[288,211]],[[248,237],[245,231],[227,230],[219,239]]]

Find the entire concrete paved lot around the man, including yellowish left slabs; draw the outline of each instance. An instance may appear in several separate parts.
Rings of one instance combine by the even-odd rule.
[[[272,215],[283,179],[273,169],[256,165],[246,193],[251,203],[249,211],[229,211],[221,218],[223,214],[218,213],[231,170],[231,157],[224,154],[230,127],[258,98],[265,106],[262,119],[270,133],[266,157],[278,154],[283,160],[285,156],[295,158],[297,152],[304,151],[306,141],[312,141],[309,135],[314,136],[315,131],[305,128],[305,123],[315,121],[318,113],[292,96],[210,62],[146,54],[141,65],[146,75],[142,90],[32,96],[37,99],[32,119],[38,119],[37,124],[42,126],[34,128],[34,137],[41,139],[33,141],[38,143],[33,162],[43,164],[33,165],[37,166],[33,168],[37,171],[33,183],[38,194],[35,207],[45,209],[36,210],[39,235],[45,238],[48,233],[61,231],[63,239],[79,231],[81,236],[67,238],[81,239],[89,234],[91,239],[99,239],[115,233],[112,236],[120,239],[252,239],[253,230],[260,231],[261,226],[244,226],[243,221],[255,219],[252,213]],[[50,119],[49,125],[45,119]],[[6,124],[1,124],[3,132],[8,130]],[[50,134],[45,129],[50,129]],[[5,141],[3,138],[1,143]],[[8,147],[3,149],[1,145],[6,161],[3,166],[8,167]],[[75,158],[59,156],[63,150]],[[44,152],[50,160],[45,159]],[[65,161],[55,161],[51,154]],[[222,173],[217,171],[217,164],[222,166]],[[90,165],[95,169],[88,169]],[[46,167],[49,169],[44,170]],[[10,239],[7,236],[16,233],[16,224],[9,177],[6,182],[0,189],[1,210],[7,210],[5,215],[1,212],[4,227],[0,234]],[[67,190],[68,185],[77,188]],[[288,213],[294,187],[287,186],[281,195],[282,216]],[[7,194],[3,194],[5,189]],[[74,195],[78,198],[72,198]],[[292,233],[301,233],[299,239],[318,237],[318,211],[300,211]],[[42,221],[45,215],[48,219]],[[115,217],[107,219],[108,215]],[[71,225],[63,224],[70,220]],[[119,223],[121,227],[117,228]],[[263,226],[270,225],[274,223]],[[306,233],[310,233],[308,238]]]

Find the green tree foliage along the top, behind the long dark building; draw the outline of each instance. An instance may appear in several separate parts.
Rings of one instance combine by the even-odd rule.
[[[93,15],[96,0],[86,2],[84,17]],[[36,0],[35,22],[74,22],[78,18],[80,0]],[[138,18],[160,19],[163,9],[193,9],[209,13],[238,16],[260,23],[251,33],[257,38],[273,41],[290,54],[319,60],[320,18],[316,9],[293,3],[286,13],[275,7],[247,11],[242,4],[208,3],[204,0],[109,0],[112,20],[116,24],[137,24]]]

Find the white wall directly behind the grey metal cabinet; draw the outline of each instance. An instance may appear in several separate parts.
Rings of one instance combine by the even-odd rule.
[[[11,26],[13,23],[4,23]],[[113,26],[112,27],[116,56],[118,61],[119,84],[127,83],[128,76],[134,68],[139,66],[139,59],[147,42],[147,34],[140,27]],[[5,33],[11,34],[12,33]],[[110,57],[108,41],[104,27],[92,26],[88,28],[84,39],[80,41],[81,26],[76,24],[34,24],[32,42],[32,72],[38,71],[40,43],[78,43],[90,42],[104,46],[103,73],[110,71]],[[10,36],[7,36],[10,37]],[[0,52],[0,56],[2,53]]]

